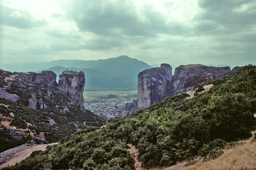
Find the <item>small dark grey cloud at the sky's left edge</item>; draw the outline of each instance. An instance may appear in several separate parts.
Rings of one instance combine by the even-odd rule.
[[[15,10],[3,5],[0,5],[0,9],[0,24],[2,25],[26,29],[46,24],[46,20],[36,19],[26,11]]]

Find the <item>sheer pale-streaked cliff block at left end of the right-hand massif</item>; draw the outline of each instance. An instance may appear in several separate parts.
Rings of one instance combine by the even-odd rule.
[[[138,107],[147,108],[165,94],[167,74],[164,68],[141,71],[138,75]]]

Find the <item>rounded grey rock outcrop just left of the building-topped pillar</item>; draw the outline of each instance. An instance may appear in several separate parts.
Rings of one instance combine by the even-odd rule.
[[[36,83],[45,83],[50,88],[57,87],[56,74],[53,71],[42,71],[38,73],[35,77]]]

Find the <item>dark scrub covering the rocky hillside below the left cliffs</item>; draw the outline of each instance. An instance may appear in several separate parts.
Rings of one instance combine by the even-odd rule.
[[[52,93],[47,93],[48,90]],[[8,107],[0,106],[0,113],[12,119],[10,126],[21,129],[28,127],[28,130],[26,130],[28,133],[32,131],[37,135],[44,132],[45,139],[50,143],[57,142],[61,138],[76,132],[75,124],[79,125],[80,129],[84,129],[90,125],[101,126],[105,122],[103,118],[89,110],[83,112],[79,106],[68,107],[70,112],[61,113],[60,107],[63,106],[63,102],[70,101],[68,95],[48,88],[46,84],[33,83],[22,86],[11,83],[10,89],[7,91],[20,97],[16,102],[0,98],[0,103],[8,105]],[[31,98],[31,93],[35,93],[37,99],[41,98],[48,108],[40,109],[39,102],[37,102],[37,109],[28,108],[28,99]],[[51,124],[49,119],[53,119],[56,124]],[[6,137],[5,139],[2,137],[2,139],[0,144],[9,141],[9,138]],[[6,147],[4,150],[9,148]]]

